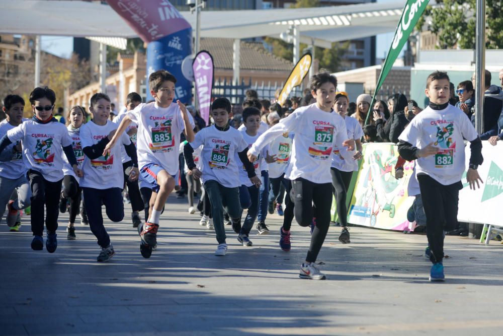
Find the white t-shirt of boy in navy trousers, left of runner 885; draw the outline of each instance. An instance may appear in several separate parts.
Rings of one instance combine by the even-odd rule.
[[[108,137],[109,133],[117,129],[117,124],[108,120],[106,125],[100,126],[90,121],[80,127],[80,142],[82,149],[99,143],[103,138]],[[126,133],[117,146],[114,146],[106,157],[91,160],[88,156],[84,158],[82,170],[84,176],[80,178],[81,187],[108,189],[124,187],[124,172],[122,171],[121,147],[131,144],[131,140]]]

